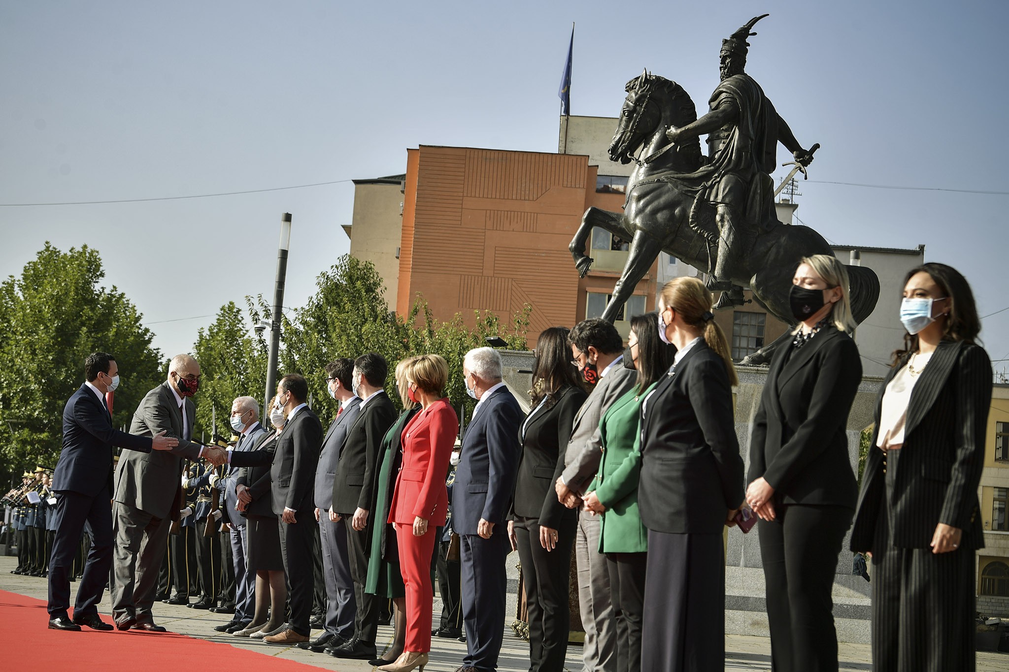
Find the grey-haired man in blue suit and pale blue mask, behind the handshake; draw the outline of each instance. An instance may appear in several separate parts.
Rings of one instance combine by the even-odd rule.
[[[259,402],[252,397],[238,397],[231,402],[231,428],[238,434],[235,450],[252,450],[266,430],[259,424]],[[245,517],[238,513],[238,496],[235,486],[239,468],[223,464],[221,474],[209,471],[203,477],[212,488],[221,493],[221,511],[228,526],[228,540],[231,543],[231,566],[235,570],[235,616],[221,626],[214,628],[219,633],[234,633],[244,630],[252,623],[255,611],[255,572],[247,571],[245,558],[248,555],[248,539],[245,536]]]

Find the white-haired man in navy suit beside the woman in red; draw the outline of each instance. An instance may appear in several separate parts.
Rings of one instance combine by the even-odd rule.
[[[462,619],[466,648],[457,672],[492,672],[504,636],[512,550],[504,516],[519,468],[522,409],[501,381],[501,358],[490,348],[466,353],[466,392],[477,400],[466,428],[452,486],[452,525],[459,534]]]

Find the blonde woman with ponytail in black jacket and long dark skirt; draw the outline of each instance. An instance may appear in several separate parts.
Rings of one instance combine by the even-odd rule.
[[[697,278],[659,297],[659,338],[673,366],[641,413],[638,502],[648,528],[643,670],[720,670],[725,657],[721,535],[744,503],[728,343]]]

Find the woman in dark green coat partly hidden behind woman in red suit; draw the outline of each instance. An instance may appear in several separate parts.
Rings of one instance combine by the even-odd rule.
[[[403,445],[400,441],[403,428],[420,410],[420,406],[412,402],[407,393],[407,378],[415,359],[410,357],[396,365],[396,385],[406,410],[385,432],[378,451],[378,487],[375,495],[377,511],[373,519],[375,523],[371,527],[371,555],[368,556],[368,576],[364,591],[377,595],[379,599],[391,599],[396,604],[396,634],[388,652],[369,661],[371,665],[387,665],[399,658],[407,636],[407,590],[400,572],[400,548],[396,543],[396,531],[385,521],[393,503],[396,477],[403,462]]]

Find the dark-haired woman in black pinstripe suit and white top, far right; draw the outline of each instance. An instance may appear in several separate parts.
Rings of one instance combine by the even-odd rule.
[[[873,669],[973,670],[992,367],[971,287],[949,266],[908,273],[901,321],[852,530],[852,550],[872,552]]]

